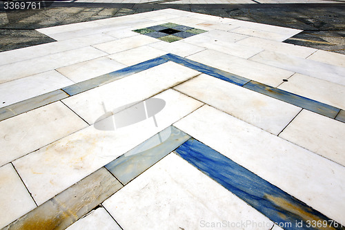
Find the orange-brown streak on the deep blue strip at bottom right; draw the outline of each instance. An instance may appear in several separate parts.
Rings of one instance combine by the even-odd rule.
[[[323,219],[319,219],[316,215],[313,215],[312,213],[308,213],[308,211],[302,209],[299,206],[296,206],[295,204],[291,204],[287,200],[284,200],[283,198],[277,198],[273,195],[265,195],[265,198],[273,202],[277,207],[282,207],[282,209],[289,211],[290,213],[294,213],[295,215],[298,215],[304,222],[308,221],[313,221],[315,220],[316,222],[322,222]],[[308,208],[309,209],[309,208]],[[334,229],[332,226],[327,226],[327,227],[318,227],[318,229],[324,229],[324,230],[331,230]]]

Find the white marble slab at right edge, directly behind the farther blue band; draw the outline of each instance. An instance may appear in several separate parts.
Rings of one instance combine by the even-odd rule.
[[[307,86],[307,87],[306,87]],[[277,88],[345,109],[345,86],[295,73]]]

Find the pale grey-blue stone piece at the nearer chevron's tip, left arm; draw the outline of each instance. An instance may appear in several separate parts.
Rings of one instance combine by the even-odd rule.
[[[105,167],[122,184],[127,184],[189,138],[189,135],[178,128],[169,126]]]

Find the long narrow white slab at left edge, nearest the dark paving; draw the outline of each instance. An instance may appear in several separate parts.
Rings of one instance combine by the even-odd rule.
[[[0,65],[52,55],[58,52],[75,50],[76,48],[82,48],[112,40],[115,40],[115,38],[109,35],[97,34],[78,37],[75,39],[67,39],[64,41],[55,41],[37,46],[29,46],[16,50],[8,50],[0,53]]]

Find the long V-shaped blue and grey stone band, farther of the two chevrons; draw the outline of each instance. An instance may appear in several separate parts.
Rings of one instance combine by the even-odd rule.
[[[177,55],[173,55],[170,53],[167,55],[163,55],[161,57],[141,62],[134,66],[128,66],[121,70],[116,70],[106,75],[101,75],[99,77],[88,79],[84,82],[73,84],[72,86],[61,88],[61,90],[55,90],[50,93],[46,93],[45,95],[33,97],[23,102],[18,102],[17,104],[0,108],[0,121],[3,119],[8,119],[9,117],[14,117],[21,113],[26,113],[27,111],[30,111],[34,108],[38,108],[40,106],[44,106],[52,102],[57,102],[59,99],[69,97],[70,95],[76,95],[77,93],[81,93],[86,90],[90,90],[92,88],[101,86],[103,84],[113,82],[117,79],[121,79],[122,77],[139,73],[143,70],[148,70],[149,68],[158,66],[160,64],[164,64],[167,61],[174,61],[177,64],[181,64],[182,66],[186,66],[188,68],[193,68],[194,70],[197,70],[201,73],[217,77],[219,79],[236,84],[238,86],[244,86],[244,88],[254,90],[255,92],[262,93],[269,97],[282,100],[283,102],[287,102],[295,106],[305,108],[309,111],[313,111],[315,113],[319,113],[326,117],[331,117],[333,119],[337,119],[339,122],[345,123],[344,112],[340,111],[339,108],[321,102],[317,102],[313,99],[308,99],[306,97],[295,95],[293,93],[288,93],[284,90],[273,88],[265,84],[250,81],[250,79],[239,77],[237,75],[225,72],[224,70],[219,70],[217,68],[206,66],[204,64],[200,64],[197,61],[192,61],[184,57],[179,57]],[[339,115],[337,115],[338,113]],[[337,117],[335,118],[335,116]]]

